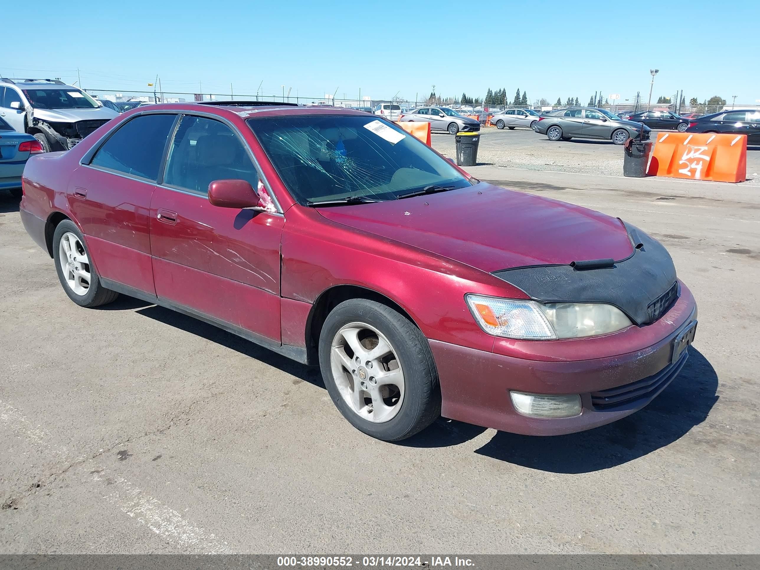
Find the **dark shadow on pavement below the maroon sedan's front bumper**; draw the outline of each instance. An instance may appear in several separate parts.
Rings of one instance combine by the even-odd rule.
[[[718,399],[717,374],[694,347],[681,373],[643,410],[614,423],[553,437],[498,432],[476,453],[552,473],[591,473],[644,457],[702,423]]]

